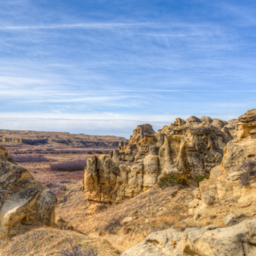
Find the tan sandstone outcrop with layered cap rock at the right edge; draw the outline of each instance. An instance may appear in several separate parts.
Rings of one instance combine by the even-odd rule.
[[[213,168],[210,179],[202,181],[194,191],[190,214],[222,200],[256,200],[256,139],[250,133],[256,125],[256,110],[248,110],[238,120],[240,139],[226,145],[221,164]]]

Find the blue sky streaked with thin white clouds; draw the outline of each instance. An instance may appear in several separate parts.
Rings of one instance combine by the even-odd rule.
[[[256,2],[2,0],[0,129],[129,138],[256,107]]]

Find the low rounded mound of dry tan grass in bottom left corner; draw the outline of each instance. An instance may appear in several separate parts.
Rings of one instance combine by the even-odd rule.
[[[66,238],[72,238],[79,248],[87,248],[88,245],[91,245],[94,250],[98,251],[99,256],[120,255],[105,239],[91,238],[77,232],[50,227],[30,230],[30,232],[25,232],[22,235],[11,238],[11,241],[5,246],[2,255],[59,255],[59,251],[69,248]]]

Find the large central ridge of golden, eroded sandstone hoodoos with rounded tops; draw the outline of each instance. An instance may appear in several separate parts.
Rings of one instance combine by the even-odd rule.
[[[226,124],[210,117],[190,117],[177,118],[158,133],[149,124],[137,126],[128,145],[120,142],[109,156],[88,159],[84,184],[89,214],[101,209],[102,203],[135,197],[163,174],[184,174],[187,183],[197,187],[192,177],[205,176],[219,165],[223,149],[232,140]]]

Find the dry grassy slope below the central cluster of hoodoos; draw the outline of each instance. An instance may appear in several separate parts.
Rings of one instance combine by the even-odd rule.
[[[81,187],[82,183],[73,187],[59,201],[56,214],[66,219],[74,230],[107,238],[120,251],[141,242],[150,232],[194,226],[187,208],[192,199],[190,187],[156,185],[137,197],[109,205],[94,216],[87,216],[88,206]],[[133,217],[133,222],[120,226],[125,217]]]

